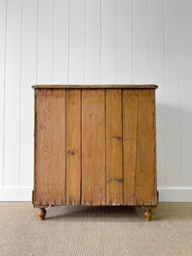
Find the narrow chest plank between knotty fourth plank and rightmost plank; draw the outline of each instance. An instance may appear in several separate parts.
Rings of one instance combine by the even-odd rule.
[[[138,90],[123,90],[124,204],[135,204]]]

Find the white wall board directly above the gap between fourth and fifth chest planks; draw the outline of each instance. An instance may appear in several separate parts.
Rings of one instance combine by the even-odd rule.
[[[132,84],[131,0],[117,1],[117,84]]]

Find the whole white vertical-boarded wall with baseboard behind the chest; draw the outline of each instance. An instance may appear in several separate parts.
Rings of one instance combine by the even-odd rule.
[[[32,84],[158,84],[160,201],[192,201],[191,26],[191,0],[0,0],[0,201],[31,201]]]

